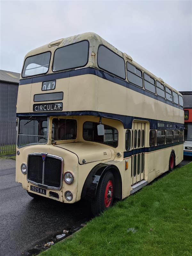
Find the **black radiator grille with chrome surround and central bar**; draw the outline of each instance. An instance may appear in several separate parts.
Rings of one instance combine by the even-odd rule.
[[[41,153],[28,155],[27,180],[39,187],[60,189],[62,185],[63,159],[47,154],[43,160]]]

